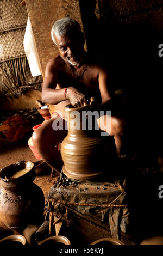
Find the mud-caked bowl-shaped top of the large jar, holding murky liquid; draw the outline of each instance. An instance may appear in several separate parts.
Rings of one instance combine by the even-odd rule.
[[[18,172],[18,170],[29,168],[29,171],[18,177],[10,178],[13,174]],[[16,192],[21,188],[24,188],[32,183],[35,179],[35,166],[33,162],[29,161],[18,161],[15,164],[10,164],[7,167],[4,167],[0,170],[0,186],[7,191]]]

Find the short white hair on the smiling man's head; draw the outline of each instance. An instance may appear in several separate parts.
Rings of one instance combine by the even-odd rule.
[[[82,33],[81,27],[79,23],[71,18],[62,18],[58,21],[55,21],[52,30],[51,30],[51,36],[54,44],[56,44],[54,35],[57,37],[66,35],[70,29],[76,29],[76,31],[79,31]],[[56,44],[57,45],[57,44]]]

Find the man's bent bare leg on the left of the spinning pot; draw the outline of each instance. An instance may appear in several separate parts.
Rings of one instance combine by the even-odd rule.
[[[59,120],[63,122],[62,130],[53,129],[53,121]],[[62,160],[56,145],[61,143],[67,136],[67,130],[65,130],[66,121],[61,117],[51,118],[43,123],[39,128],[33,132],[33,144],[42,158],[54,169],[59,172],[62,167]]]

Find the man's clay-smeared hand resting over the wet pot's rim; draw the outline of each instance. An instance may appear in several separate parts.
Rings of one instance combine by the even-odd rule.
[[[76,88],[68,87],[65,96],[66,100],[70,100],[73,107],[83,107],[86,105],[85,95]]]

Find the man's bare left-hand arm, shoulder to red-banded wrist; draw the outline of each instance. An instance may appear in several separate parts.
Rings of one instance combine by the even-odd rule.
[[[65,88],[55,89],[58,83],[58,70],[55,59],[49,60],[45,70],[45,80],[42,87],[42,102],[58,104],[64,101]]]

